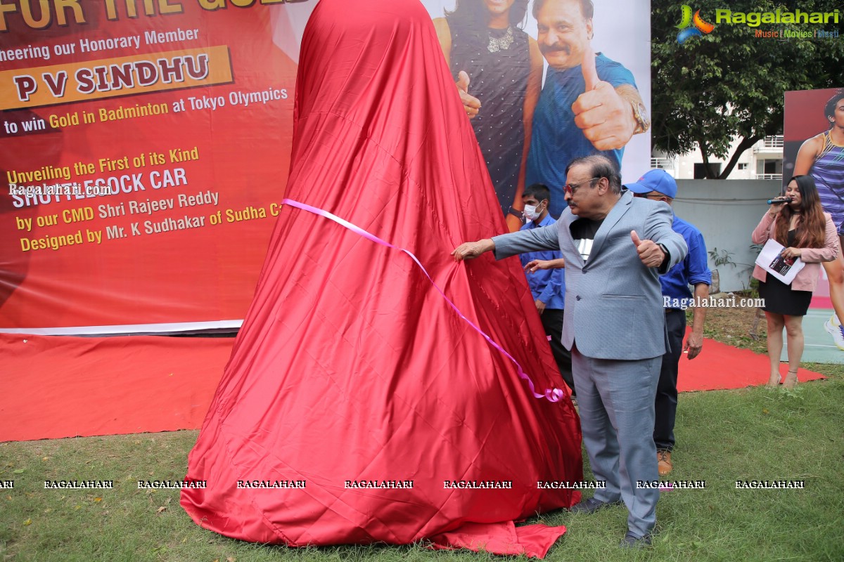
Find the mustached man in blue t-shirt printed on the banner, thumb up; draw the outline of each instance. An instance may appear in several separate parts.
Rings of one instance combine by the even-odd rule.
[[[603,154],[621,168],[630,138],[651,126],[633,75],[592,51],[592,0],[534,0],[548,75],[533,114],[526,185],[551,190],[552,217],[565,209],[565,167]]]

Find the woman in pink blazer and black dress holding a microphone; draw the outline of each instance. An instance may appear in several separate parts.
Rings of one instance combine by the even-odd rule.
[[[805,264],[794,280],[786,285],[756,265],[753,276],[759,280],[759,296],[765,299],[768,323],[768,357],[771,361],[769,387],[782,380],[782,327],[786,328],[788,374],[783,387],[794,388],[797,370],[803,355],[803,316],[809,310],[812,292],[818,283],[820,262],[832,261],[838,255],[838,235],[829,213],[820,206],[818,190],[809,175],[794,176],[786,194],[771,201],[771,206],[753,231],[754,244],[765,244],[769,238],[785,246],[782,258],[800,258]]]

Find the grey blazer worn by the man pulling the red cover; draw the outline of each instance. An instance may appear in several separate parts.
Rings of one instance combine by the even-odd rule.
[[[682,261],[688,252],[683,237],[671,228],[671,207],[662,201],[633,197],[624,190],[595,234],[584,263],[571,238],[577,217],[569,209],[543,228],[492,238],[495,259],[538,249],[560,249],[565,259],[565,315],[562,343],[576,341],[577,351],[596,359],[647,359],[668,350],[659,274]],[[668,249],[665,270],[641,263],[630,239]]]

